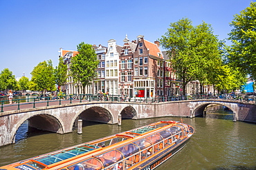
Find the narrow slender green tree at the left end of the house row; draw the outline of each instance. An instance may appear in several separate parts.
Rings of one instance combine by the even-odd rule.
[[[64,64],[63,57],[60,56],[59,64],[55,68],[55,83],[58,85],[58,88],[60,88],[64,83],[66,83],[67,78],[67,65]]]

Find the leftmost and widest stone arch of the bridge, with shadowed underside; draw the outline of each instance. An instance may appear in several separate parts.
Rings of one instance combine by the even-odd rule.
[[[26,120],[28,120],[29,127],[34,127],[44,131],[52,131],[58,134],[64,133],[64,123],[62,122],[61,118],[57,118],[56,116],[50,114],[29,115],[21,118],[21,120],[14,125],[13,131],[11,132],[12,143],[15,143],[17,131]]]

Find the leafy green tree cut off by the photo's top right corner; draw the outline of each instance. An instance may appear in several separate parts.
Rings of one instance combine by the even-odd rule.
[[[233,27],[229,35],[232,45],[229,50],[229,63],[238,67],[240,72],[256,78],[256,2],[235,14],[230,26]]]

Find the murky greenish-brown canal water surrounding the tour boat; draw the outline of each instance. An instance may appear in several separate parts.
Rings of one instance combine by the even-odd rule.
[[[256,169],[256,125],[233,122],[232,112],[210,111],[205,117],[182,118],[195,133],[179,153],[157,169]],[[71,147],[121,131],[127,131],[159,120],[181,120],[177,117],[122,120],[122,125],[84,122],[83,134],[54,134],[19,128],[17,142],[0,147],[0,166],[43,153]],[[27,138],[24,138],[27,137]],[[23,138],[23,139],[22,139]]]

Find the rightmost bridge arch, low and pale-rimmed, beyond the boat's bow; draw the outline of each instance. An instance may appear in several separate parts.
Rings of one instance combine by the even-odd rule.
[[[228,107],[228,109],[230,109],[231,111],[235,112],[235,109],[233,107],[231,107],[230,105],[228,105],[228,103],[219,103],[219,102],[205,102],[205,103],[201,103],[199,105],[197,105],[196,107],[194,107],[194,109],[192,110],[192,117],[194,116],[199,116],[199,115],[203,115],[204,111],[205,111],[205,108],[208,106],[208,105],[212,105],[212,104],[215,104],[215,105],[222,105],[222,106],[225,106],[225,107]]]

